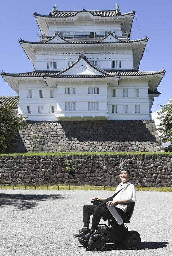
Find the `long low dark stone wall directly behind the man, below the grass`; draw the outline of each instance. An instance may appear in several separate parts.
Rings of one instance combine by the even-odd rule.
[[[67,161],[72,169],[66,170]],[[130,170],[139,186],[172,187],[172,155],[0,156],[0,184],[117,186],[119,170]]]

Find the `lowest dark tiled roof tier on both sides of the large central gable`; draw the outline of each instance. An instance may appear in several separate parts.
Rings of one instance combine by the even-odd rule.
[[[65,70],[66,71],[66,70]],[[106,71],[107,72],[107,71]],[[109,74],[114,75],[118,72],[118,74],[122,77],[128,77],[128,76],[144,76],[144,75],[156,75],[156,74],[163,74],[165,73],[165,70],[159,70],[159,71],[140,71],[140,70],[109,70]],[[2,71],[1,75],[6,75],[9,77],[44,77],[46,75],[58,75],[59,73],[62,73],[62,71],[31,71],[26,73],[5,73]],[[62,77],[62,76],[60,76]]]

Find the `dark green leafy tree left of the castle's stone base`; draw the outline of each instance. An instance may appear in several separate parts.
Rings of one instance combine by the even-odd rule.
[[[8,152],[9,147],[17,140],[17,131],[25,125],[21,122],[23,119],[26,117],[17,116],[12,105],[0,106],[0,154]]]

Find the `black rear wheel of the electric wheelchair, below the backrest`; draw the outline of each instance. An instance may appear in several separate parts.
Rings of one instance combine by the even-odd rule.
[[[140,234],[136,231],[129,231],[125,238],[125,245],[128,249],[136,250],[141,243]]]

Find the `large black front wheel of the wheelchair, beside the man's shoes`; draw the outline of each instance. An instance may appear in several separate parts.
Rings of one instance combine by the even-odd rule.
[[[105,237],[100,233],[94,233],[89,239],[89,248],[91,251],[102,251],[105,247]]]

